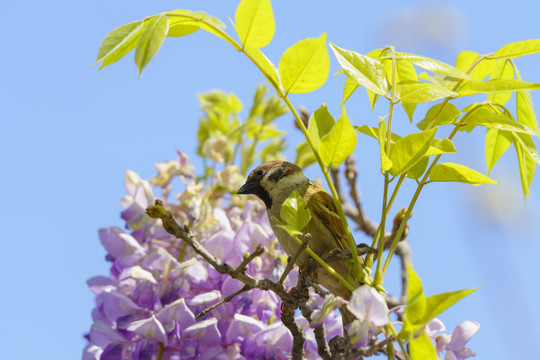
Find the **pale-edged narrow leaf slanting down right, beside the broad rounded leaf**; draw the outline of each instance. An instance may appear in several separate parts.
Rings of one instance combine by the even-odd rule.
[[[388,92],[384,66],[381,62],[370,56],[342,49],[332,43],[330,48],[348,77],[375,94],[385,95]]]

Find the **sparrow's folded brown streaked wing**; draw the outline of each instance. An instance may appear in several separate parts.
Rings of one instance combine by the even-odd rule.
[[[311,215],[316,216],[328,229],[340,250],[348,249],[347,234],[334,204],[334,199],[317,183],[311,185],[313,193],[310,194],[308,201],[308,209],[311,211]]]

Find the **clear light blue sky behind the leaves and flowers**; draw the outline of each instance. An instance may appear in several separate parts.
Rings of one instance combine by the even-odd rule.
[[[391,44],[453,64],[461,50],[492,52],[538,38],[540,30],[536,0],[328,4],[274,1],[276,35],[266,54],[277,63],[294,42],[327,32],[329,41],[360,53]],[[141,79],[132,54],[99,72],[91,67],[101,40],[119,25],[177,8],[205,10],[229,24],[235,7],[236,1],[209,0],[0,3],[0,343],[6,359],[81,356],[93,307],[85,282],[108,273],[97,230],[123,225],[124,172],[150,178],[153,164],[173,159],[177,148],[200,164],[196,93],[222,89],[249,106],[263,82],[245,58],[202,32],[168,39]],[[525,79],[540,82],[539,59],[517,60]],[[337,70],[332,59],[331,73]],[[330,77],[322,89],[292,101],[311,110],[326,102],[338,114],[343,81]],[[538,107],[538,93],[533,101]],[[372,113],[359,91],[347,112],[355,124],[375,124],[388,111],[382,104]],[[402,133],[412,130],[403,115],[395,121]],[[292,131],[290,116],[278,126]],[[452,161],[485,171],[482,135],[458,138]],[[296,134],[288,139],[289,159],[298,141]],[[382,188],[376,151],[359,137],[360,186],[372,218],[380,213]],[[308,174],[318,176],[314,169]],[[479,359],[529,358],[540,335],[540,181],[534,179],[524,203],[511,153],[492,177],[500,185],[427,187],[410,222],[414,263],[428,295],[483,286],[441,317],[449,329],[463,320],[480,322],[470,343]],[[404,188],[395,209],[408,203],[411,190]]]

